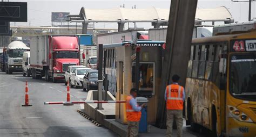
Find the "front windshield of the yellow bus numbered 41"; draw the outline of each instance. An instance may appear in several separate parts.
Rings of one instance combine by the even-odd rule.
[[[231,55],[230,91],[234,96],[256,99],[256,54]]]

